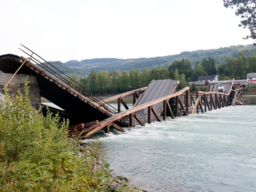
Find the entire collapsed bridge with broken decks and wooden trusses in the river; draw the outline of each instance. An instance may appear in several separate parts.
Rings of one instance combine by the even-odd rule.
[[[56,108],[50,110],[70,119],[70,134],[83,133],[88,138],[103,128],[109,133],[110,126],[124,132],[121,127],[133,127],[138,124],[144,126],[152,121],[162,121],[160,116],[165,120],[166,116],[175,118],[194,114],[195,111],[199,113],[199,108],[204,113],[207,108],[210,111],[212,108],[242,104],[237,97],[243,87],[235,88],[234,79],[231,83],[223,85],[227,90],[225,93],[216,91],[217,86],[214,84],[210,86],[210,92],[189,93],[189,87],[176,92],[179,81],[165,79],[152,80],[148,87],[102,100],[35,52],[25,46],[23,49],[25,51],[21,51],[27,55],[26,58],[13,54],[1,55],[0,70],[14,75],[17,73],[35,76],[40,95],[64,111]],[[144,92],[139,95],[141,91]],[[133,95],[133,107],[130,109],[123,100],[127,95]],[[108,103],[116,99],[117,109]],[[121,103],[125,111],[121,111]]]

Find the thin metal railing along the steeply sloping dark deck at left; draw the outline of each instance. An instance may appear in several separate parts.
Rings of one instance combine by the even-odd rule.
[[[95,95],[94,93],[92,93],[89,90],[87,90],[84,86],[82,86],[81,84],[76,82],[74,79],[72,79],[71,77],[69,77],[65,73],[61,72],[58,68],[54,67],[51,63],[49,63],[48,61],[44,60],[42,57],[37,55],[35,52],[31,51],[30,49],[28,49],[24,45],[22,45],[22,46],[24,48],[26,48],[28,51],[30,51],[31,54],[23,51],[20,48],[19,49],[21,51],[23,51],[24,53],[26,53],[31,58],[31,61],[35,62],[35,64],[39,68],[44,70],[41,73],[41,75],[44,76],[44,73],[47,72],[47,73],[49,73],[50,75],[52,75],[53,77],[55,77],[57,79],[56,83],[58,83],[58,81],[61,81],[64,84],[68,85],[68,88],[66,88],[67,89],[66,91],[70,91],[70,89],[74,89],[76,92],[80,93],[79,97],[81,97],[81,95],[83,95],[83,96],[89,98],[90,102],[93,102],[93,103],[97,104],[98,106],[101,106],[101,107],[105,108],[107,110],[107,112],[109,112],[109,113],[112,113],[112,114],[118,113],[118,110],[116,108],[114,108],[113,106],[109,105],[104,100],[100,99],[97,95]],[[35,58],[33,55],[36,55],[38,58]],[[43,60],[43,61],[41,62],[41,61],[39,61],[39,59]],[[54,80],[53,83],[55,83],[55,80]]]

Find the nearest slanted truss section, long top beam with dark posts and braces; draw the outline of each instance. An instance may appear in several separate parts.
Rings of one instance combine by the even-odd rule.
[[[116,120],[118,120],[118,119],[120,119],[120,118],[122,118],[122,117],[125,117],[125,116],[129,116],[129,125],[130,125],[130,127],[133,127],[133,125],[134,125],[134,124],[133,124],[133,118],[135,118],[135,119],[140,123],[141,126],[145,126],[145,124],[144,124],[143,121],[140,119],[140,117],[135,113],[136,111],[139,111],[139,110],[144,109],[144,108],[148,108],[148,110],[149,110],[148,112],[150,112],[150,113],[148,113],[148,114],[150,114],[150,115],[151,115],[151,111],[152,111],[152,112],[153,112],[153,115],[156,116],[156,119],[157,119],[158,121],[161,121],[160,117],[158,116],[158,114],[157,114],[157,112],[156,112],[156,110],[155,110],[155,108],[154,108],[154,106],[153,106],[154,104],[159,103],[159,102],[163,102],[163,103],[164,103],[164,106],[165,106],[165,107],[164,107],[164,114],[165,114],[165,115],[164,115],[164,116],[165,116],[165,117],[164,117],[164,120],[166,119],[166,108],[167,108],[167,107],[168,107],[169,110],[171,111],[172,118],[174,118],[174,116],[177,116],[177,115],[178,115],[178,112],[177,112],[177,111],[178,111],[179,105],[180,105],[180,107],[183,109],[183,113],[184,113],[185,115],[188,115],[188,107],[189,107],[189,105],[188,105],[188,99],[186,100],[186,106],[187,106],[187,108],[184,107],[184,105],[183,105],[183,103],[182,103],[182,100],[180,99],[180,95],[181,95],[182,93],[184,93],[184,92],[186,92],[187,98],[189,98],[189,97],[188,97],[188,95],[189,95],[189,87],[185,87],[185,88],[183,88],[182,90],[180,90],[179,92],[172,93],[172,94],[170,94],[170,95],[167,95],[167,96],[158,98],[158,99],[156,99],[156,100],[149,101],[149,102],[147,102],[147,103],[141,104],[141,105],[136,106],[136,107],[133,107],[133,108],[131,108],[131,109],[122,111],[122,112],[120,112],[120,113],[118,113],[118,114],[116,114],[116,115],[114,115],[114,116],[108,117],[107,119],[101,121],[97,127],[93,127],[93,126],[89,127],[88,129],[92,128],[92,130],[91,130],[90,132],[88,132],[87,134],[85,134],[85,137],[88,138],[88,137],[92,136],[94,133],[100,131],[101,129],[103,129],[103,128],[105,128],[105,127],[107,127],[107,129],[105,128],[105,130],[108,131],[108,126],[111,126],[114,121],[116,121]],[[178,104],[176,105],[176,109],[177,109],[177,110],[175,111],[176,113],[175,113],[174,115],[173,115],[172,109],[171,109],[171,107],[170,107],[170,104],[169,104],[169,102],[168,102],[168,100],[169,100],[170,98],[173,98],[173,97],[176,97],[176,100],[177,100],[177,102],[178,102]],[[148,118],[148,123],[151,123],[151,118]]]

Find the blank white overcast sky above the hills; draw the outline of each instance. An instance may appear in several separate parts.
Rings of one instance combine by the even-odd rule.
[[[236,44],[249,34],[222,0],[0,1],[0,55],[46,60],[140,58]]]

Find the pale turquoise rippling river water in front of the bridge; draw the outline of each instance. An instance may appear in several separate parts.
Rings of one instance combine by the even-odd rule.
[[[256,106],[96,137],[115,173],[147,191],[256,191]]]

